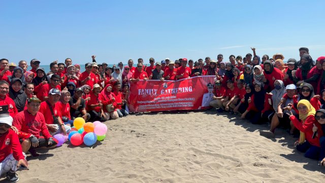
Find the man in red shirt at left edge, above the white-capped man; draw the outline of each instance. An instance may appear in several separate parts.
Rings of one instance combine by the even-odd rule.
[[[9,84],[7,81],[0,80],[0,111],[4,110],[4,106],[7,108],[8,106],[8,113],[11,117],[14,117],[18,110],[16,108],[15,102],[9,97]]]

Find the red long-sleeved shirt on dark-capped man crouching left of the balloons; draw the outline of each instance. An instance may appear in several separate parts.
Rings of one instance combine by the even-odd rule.
[[[52,137],[46,127],[44,115],[41,112],[37,112],[33,116],[27,110],[23,110],[14,117],[12,125],[20,132],[35,135],[37,138],[41,136],[41,133],[46,139]]]

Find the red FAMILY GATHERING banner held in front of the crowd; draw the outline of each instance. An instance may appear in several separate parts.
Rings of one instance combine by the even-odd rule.
[[[215,76],[177,81],[140,80],[131,83],[130,112],[191,110],[209,108]]]

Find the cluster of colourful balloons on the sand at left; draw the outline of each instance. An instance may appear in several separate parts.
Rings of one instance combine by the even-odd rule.
[[[72,145],[81,145],[84,143],[87,146],[91,146],[96,141],[102,141],[106,137],[107,126],[100,121],[94,121],[94,123],[85,123],[82,117],[77,117],[73,122],[74,127],[68,136],[62,134],[56,134],[53,137],[58,140],[57,146],[61,146],[68,139]]]

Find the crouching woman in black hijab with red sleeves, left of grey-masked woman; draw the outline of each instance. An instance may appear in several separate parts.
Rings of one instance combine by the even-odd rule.
[[[254,90],[254,94],[248,98],[249,105],[241,117],[249,119],[252,124],[270,121],[274,114],[268,102],[271,96],[266,93],[260,82],[254,84]]]

